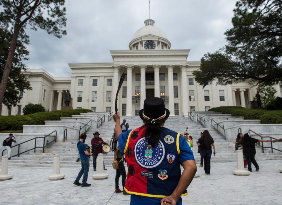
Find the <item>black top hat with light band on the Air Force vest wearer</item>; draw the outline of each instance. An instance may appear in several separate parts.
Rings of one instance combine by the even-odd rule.
[[[169,110],[164,107],[163,99],[146,98],[144,100],[144,109],[139,111],[139,116],[144,122],[157,124],[166,121]]]

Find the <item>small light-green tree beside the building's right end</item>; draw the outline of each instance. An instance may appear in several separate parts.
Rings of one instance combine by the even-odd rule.
[[[261,95],[261,106],[267,107],[269,103],[275,100],[275,93],[277,92],[272,86],[258,85],[258,93]],[[257,100],[256,97],[253,100]]]

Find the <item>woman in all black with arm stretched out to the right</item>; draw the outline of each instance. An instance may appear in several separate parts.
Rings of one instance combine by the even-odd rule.
[[[268,142],[267,140],[258,140],[255,138],[250,137],[248,133],[246,133],[241,140],[241,144],[243,145],[243,154],[246,157],[248,163],[248,170],[252,171],[252,163],[256,167],[256,171],[259,170],[258,163],[256,162],[255,155],[256,155],[256,147],[255,144],[257,142]]]

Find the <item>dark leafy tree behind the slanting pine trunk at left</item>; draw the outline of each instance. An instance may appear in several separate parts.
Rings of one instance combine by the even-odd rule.
[[[12,34],[8,30],[0,28],[0,78],[3,75],[11,38]],[[26,70],[25,65],[22,63],[22,60],[28,60],[28,58],[26,57],[28,56],[28,54],[29,51],[26,49],[24,43],[20,39],[18,39],[11,66],[11,72],[3,98],[3,103],[7,107],[16,106],[20,102],[20,90],[31,90],[28,79],[21,72],[21,70]]]

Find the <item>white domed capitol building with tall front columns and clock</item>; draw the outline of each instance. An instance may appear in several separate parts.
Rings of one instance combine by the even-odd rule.
[[[166,34],[147,19],[145,26],[134,34],[129,50],[111,50],[113,62],[69,63],[71,77],[53,77],[43,69],[24,72],[32,90],[21,92],[19,105],[8,109],[2,105],[0,115],[22,114],[28,103],[42,104],[46,110],[61,110],[66,90],[71,93],[70,106],[88,108],[94,112],[114,112],[115,96],[120,76],[127,73],[118,98],[121,115],[138,115],[148,97],[164,99],[170,115],[185,115],[207,111],[219,106],[250,107],[256,88],[248,82],[232,85],[211,85],[202,88],[195,82],[192,71],[200,61],[187,61],[190,49],[171,49]],[[275,85],[276,96],[282,88]]]

